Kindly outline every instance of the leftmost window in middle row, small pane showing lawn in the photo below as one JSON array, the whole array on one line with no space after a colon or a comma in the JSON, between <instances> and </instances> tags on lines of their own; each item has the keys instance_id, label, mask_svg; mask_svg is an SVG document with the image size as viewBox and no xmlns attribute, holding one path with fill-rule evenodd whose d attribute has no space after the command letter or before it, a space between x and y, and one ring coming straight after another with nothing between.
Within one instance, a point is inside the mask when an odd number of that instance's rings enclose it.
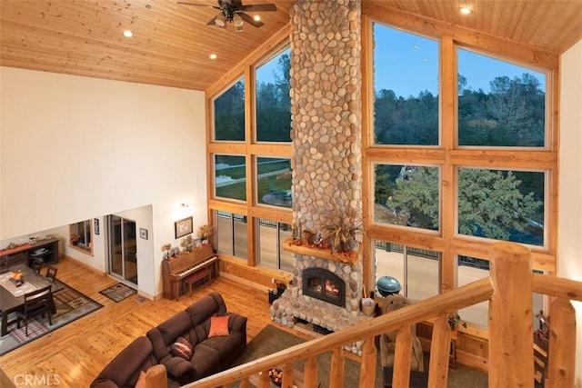
<instances>
[{"instance_id":1,"label":"leftmost window in middle row, small pane showing lawn","mask_svg":"<svg viewBox=\"0 0 582 388\"><path fill-rule=\"evenodd\" d=\"M246 201L245 156L215 155L216 196Z\"/></svg>"}]
</instances>

